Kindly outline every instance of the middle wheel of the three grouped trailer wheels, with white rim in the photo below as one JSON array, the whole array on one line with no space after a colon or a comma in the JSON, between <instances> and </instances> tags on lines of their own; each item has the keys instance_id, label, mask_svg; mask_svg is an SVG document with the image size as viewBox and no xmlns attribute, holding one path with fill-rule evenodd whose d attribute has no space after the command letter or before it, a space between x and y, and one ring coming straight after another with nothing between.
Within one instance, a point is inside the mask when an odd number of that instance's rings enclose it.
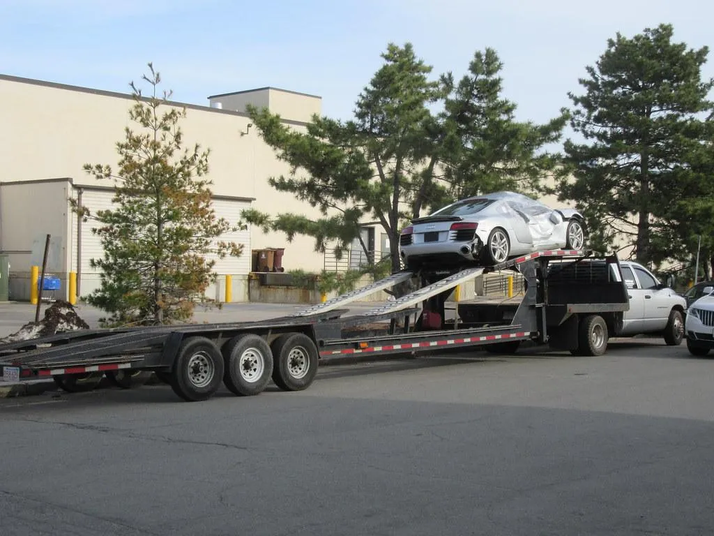
<instances>
[{"instance_id":1,"label":"middle wheel of the three grouped trailer wheels, with white rim","mask_svg":"<svg viewBox=\"0 0 714 536\"><path fill-rule=\"evenodd\" d=\"M246 333L233 337L221 349L223 383L239 397L250 397L266 388L273 374L273 352L266 339Z\"/></svg>"}]
</instances>

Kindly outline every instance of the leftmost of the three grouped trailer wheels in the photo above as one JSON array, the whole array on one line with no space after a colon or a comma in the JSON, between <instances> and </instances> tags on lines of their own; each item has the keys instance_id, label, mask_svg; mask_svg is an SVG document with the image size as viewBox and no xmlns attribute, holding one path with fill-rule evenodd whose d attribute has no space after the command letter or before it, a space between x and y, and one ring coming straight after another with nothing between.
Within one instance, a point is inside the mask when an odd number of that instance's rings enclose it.
<instances>
[{"instance_id":1,"label":"leftmost of the three grouped trailer wheels","mask_svg":"<svg viewBox=\"0 0 714 536\"><path fill-rule=\"evenodd\" d=\"M206 337L188 337L178 347L171 389L187 402L206 400L221 387L223 356Z\"/></svg>"}]
</instances>

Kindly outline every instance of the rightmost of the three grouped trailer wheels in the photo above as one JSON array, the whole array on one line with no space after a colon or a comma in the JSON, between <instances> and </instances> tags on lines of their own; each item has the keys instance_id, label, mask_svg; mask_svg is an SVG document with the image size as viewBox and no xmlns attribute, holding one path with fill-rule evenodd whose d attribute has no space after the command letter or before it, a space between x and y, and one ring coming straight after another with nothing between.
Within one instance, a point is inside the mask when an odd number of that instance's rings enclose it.
<instances>
[{"instance_id":1,"label":"rightmost of the three grouped trailer wheels","mask_svg":"<svg viewBox=\"0 0 714 536\"><path fill-rule=\"evenodd\" d=\"M302 333L286 333L271 344L273 349L273 382L283 391L307 389L317 374L317 348Z\"/></svg>"}]
</instances>

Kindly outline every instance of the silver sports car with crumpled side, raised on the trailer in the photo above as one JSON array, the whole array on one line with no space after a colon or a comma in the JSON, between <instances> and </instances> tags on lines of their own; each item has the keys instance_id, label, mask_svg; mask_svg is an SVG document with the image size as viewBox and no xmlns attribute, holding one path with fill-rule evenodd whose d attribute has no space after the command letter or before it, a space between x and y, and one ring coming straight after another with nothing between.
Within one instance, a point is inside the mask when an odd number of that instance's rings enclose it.
<instances>
[{"instance_id":1,"label":"silver sports car with crumpled side, raised on the trailer","mask_svg":"<svg viewBox=\"0 0 714 536\"><path fill-rule=\"evenodd\" d=\"M513 192L469 197L402 229L399 249L408 269L497 264L544 249L582 249L584 219Z\"/></svg>"}]
</instances>

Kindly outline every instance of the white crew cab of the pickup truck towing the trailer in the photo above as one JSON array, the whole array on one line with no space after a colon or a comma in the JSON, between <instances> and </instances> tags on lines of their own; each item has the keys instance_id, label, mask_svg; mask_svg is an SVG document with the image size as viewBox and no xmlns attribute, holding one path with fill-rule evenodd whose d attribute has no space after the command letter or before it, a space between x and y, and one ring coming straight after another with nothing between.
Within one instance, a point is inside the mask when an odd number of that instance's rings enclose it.
<instances>
[{"instance_id":1,"label":"white crew cab of the pickup truck towing the trailer","mask_svg":"<svg viewBox=\"0 0 714 536\"><path fill-rule=\"evenodd\" d=\"M684 297L660 283L641 264L620 261L620 268L628 289L630 310L625 311L622 328L615 333L615 337L660 332L667 344L681 344L684 312L687 309Z\"/></svg>"}]
</instances>

